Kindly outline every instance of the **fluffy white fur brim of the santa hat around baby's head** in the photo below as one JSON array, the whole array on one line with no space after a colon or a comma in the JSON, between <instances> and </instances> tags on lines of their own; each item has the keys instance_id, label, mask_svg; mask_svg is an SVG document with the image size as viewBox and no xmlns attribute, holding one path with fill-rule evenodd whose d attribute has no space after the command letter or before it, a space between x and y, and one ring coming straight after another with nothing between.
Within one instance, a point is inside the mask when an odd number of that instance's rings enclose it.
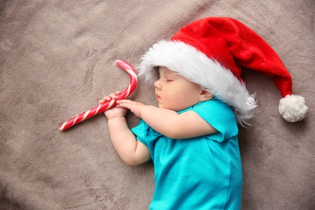
<instances>
[{"instance_id":1,"label":"fluffy white fur brim of the santa hat around baby's head","mask_svg":"<svg viewBox=\"0 0 315 210\"><path fill-rule=\"evenodd\" d=\"M254 95L249 95L241 83L228 69L203 52L180 41L159 41L143 56L140 75L153 83L158 75L155 66L166 66L234 108L240 124L253 117L257 106Z\"/></svg>"}]
</instances>

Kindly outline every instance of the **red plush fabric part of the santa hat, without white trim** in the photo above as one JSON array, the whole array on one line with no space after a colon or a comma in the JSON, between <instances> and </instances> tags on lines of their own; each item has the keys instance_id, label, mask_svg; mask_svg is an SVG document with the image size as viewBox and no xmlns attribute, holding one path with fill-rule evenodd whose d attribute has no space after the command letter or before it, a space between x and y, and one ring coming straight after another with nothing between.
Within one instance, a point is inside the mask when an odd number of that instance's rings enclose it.
<instances>
[{"instance_id":1,"label":"red plush fabric part of the santa hat, without white trim","mask_svg":"<svg viewBox=\"0 0 315 210\"><path fill-rule=\"evenodd\" d=\"M242 67L273 77L283 97L292 94L292 79L278 54L255 31L238 20L208 17L181 28L180 40L213 57L241 79Z\"/></svg>"}]
</instances>

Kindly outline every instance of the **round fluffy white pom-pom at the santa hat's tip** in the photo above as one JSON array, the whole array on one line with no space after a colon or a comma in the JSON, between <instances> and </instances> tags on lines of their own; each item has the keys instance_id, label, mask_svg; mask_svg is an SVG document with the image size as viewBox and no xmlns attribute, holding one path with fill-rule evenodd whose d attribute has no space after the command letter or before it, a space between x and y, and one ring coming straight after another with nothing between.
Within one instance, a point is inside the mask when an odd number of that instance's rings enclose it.
<instances>
[{"instance_id":1,"label":"round fluffy white pom-pom at the santa hat's tip","mask_svg":"<svg viewBox=\"0 0 315 210\"><path fill-rule=\"evenodd\" d=\"M279 112L288 122L297 122L306 116L308 111L302 96L287 95L279 102Z\"/></svg>"}]
</instances>

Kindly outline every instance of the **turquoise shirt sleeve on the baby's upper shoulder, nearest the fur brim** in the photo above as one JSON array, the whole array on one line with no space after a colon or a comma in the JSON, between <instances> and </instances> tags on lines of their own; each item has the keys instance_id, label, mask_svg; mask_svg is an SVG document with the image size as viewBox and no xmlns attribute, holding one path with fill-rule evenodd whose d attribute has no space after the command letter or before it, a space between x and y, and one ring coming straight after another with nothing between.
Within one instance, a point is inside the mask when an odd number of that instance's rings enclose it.
<instances>
[{"instance_id":1,"label":"turquoise shirt sleeve on the baby's upper shoulder, nearest the fur brim","mask_svg":"<svg viewBox=\"0 0 315 210\"><path fill-rule=\"evenodd\" d=\"M196 112L218 130L217 133L209 135L215 141L226 141L239 133L233 110L219 99L213 98L212 100L201 102L195 105L191 111Z\"/></svg>"}]
</instances>

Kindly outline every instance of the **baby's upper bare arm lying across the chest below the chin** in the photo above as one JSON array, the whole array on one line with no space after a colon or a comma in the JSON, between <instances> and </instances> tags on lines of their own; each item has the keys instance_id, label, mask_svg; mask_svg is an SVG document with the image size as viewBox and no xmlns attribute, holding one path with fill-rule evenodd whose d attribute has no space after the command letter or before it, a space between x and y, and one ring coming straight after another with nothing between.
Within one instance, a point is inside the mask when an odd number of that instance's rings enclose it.
<instances>
[{"instance_id":1,"label":"baby's upper bare arm lying across the chest below the chin","mask_svg":"<svg viewBox=\"0 0 315 210\"><path fill-rule=\"evenodd\" d=\"M120 100L117 103L119 107L130 109L154 130L170 138L191 138L217 132L194 111L178 114L173 110L147 106L130 100Z\"/></svg>"}]
</instances>

